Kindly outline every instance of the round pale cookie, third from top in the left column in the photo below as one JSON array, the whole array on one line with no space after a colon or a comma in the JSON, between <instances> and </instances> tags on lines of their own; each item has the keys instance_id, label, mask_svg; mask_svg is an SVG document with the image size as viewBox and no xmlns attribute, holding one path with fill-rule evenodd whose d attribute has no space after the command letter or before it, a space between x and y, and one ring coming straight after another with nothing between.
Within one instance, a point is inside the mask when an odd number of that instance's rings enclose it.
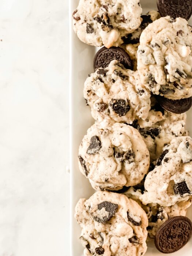
<instances>
[{"instance_id":1,"label":"round pale cookie, third from top in the left column","mask_svg":"<svg viewBox=\"0 0 192 256\"><path fill-rule=\"evenodd\" d=\"M139 132L126 124L95 123L79 147L79 168L96 190L138 184L149 168L149 152Z\"/></svg>"}]
</instances>

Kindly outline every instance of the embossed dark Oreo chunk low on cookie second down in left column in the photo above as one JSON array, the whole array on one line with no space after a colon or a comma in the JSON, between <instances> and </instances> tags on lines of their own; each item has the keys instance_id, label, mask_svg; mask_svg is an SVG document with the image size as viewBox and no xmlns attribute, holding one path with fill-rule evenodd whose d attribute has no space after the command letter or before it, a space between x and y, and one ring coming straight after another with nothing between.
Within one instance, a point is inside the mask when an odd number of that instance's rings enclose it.
<instances>
[{"instance_id":1,"label":"embossed dark Oreo chunk low on cookie second down in left column","mask_svg":"<svg viewBox=\"0 0 192 256\"><path fill-rule=\"evenodd\" d=\"M118 116L125 116L130 110L130 106L128 104L126 105L124 99L112 99L109 105Z\"/></svg>"}]
</instances>

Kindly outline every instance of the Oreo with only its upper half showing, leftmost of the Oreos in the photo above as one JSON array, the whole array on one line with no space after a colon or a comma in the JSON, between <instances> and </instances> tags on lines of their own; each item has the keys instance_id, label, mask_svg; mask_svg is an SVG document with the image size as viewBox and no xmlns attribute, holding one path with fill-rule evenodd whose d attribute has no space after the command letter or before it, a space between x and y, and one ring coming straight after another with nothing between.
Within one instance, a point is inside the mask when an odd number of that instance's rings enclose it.
<instances>
[{"instance_id":1,"label":"Oreo with only its upper half showing, leftmost of the Oreos","mask_svg":"<svg viewBox=\"0 0 192 256\"><path fill-rule=\"evenodd\" d=\"M120 47L111 47L106 48L102 47L95 54L93 60L94 70L97 68L106 68L112 60L118 60L121 64L124 65L127 69L133 69L132 61L129 57L129 54L125 52L124 49Z\"/></svg>"}]
</instances>

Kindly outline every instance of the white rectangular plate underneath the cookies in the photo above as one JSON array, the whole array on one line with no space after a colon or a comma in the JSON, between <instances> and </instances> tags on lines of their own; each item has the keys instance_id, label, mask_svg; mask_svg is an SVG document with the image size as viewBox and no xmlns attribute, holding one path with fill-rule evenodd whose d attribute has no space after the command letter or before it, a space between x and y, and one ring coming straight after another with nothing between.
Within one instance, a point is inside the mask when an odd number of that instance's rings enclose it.
<instances>
[{"instance_id":1,"label":"white rectangular plate underneath the cookies","mask_svg":"<svg viewBox=\"0 0 192 256\"><path fill-rule=\"evenodd\" d=\"M72 12L78 6L79 0L69 0L70 10L69 17L71 19ZM143 14L146 14L150 10L157 10L156 1L140 0L143 8ZM192 19L189 23L192 25ZM86 106L83 98L83 85L87 78L87 75L93 72L93 58L96 52L96 48L89 46L81 42L75 35L72 28L70 28L70 46L71 46L71 105L70 105L70 125L71 125L71 256L83 256L83 247L80 244L80 227L74 218L75 205L80 198L88 199L94 190L91 188L89 180L84 177L78 167L78 149L83 136L86 134L87 129L94 124L94 120L91 117L90 108ZM188 112L187 128L192 135L192 110ZM187 216L192 220L192 207L188 210ZM153 243L148 244L146 256L160 256L163 255L155 248ZM180 251L172 253L174 256L191 256L192 255L192 239L184 246Z\"/></svg>"}]
</instances>

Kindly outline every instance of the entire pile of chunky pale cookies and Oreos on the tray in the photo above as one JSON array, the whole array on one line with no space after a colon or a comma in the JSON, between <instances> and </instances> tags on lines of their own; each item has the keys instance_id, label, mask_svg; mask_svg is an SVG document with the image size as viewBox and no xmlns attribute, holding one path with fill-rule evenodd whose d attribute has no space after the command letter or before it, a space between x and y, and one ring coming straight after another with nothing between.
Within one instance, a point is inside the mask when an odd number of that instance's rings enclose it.
<instances>
[{"instance_id":1,"label":"entire pile of chunky pale cookies and Oreos on the tray","mask_svg":"<svg viewBox=\"0 0 192 256\"><path fill-rule=\"evenodd\" d=\"M73 13L79 39L104 45L83 90L95 124L78 161L97 191L75 209L86 256L144 255L147 239L172 253L191 237L192 1L169 2L142 15L139 0L80 0Z\"/></svg>"}]
</instances>

